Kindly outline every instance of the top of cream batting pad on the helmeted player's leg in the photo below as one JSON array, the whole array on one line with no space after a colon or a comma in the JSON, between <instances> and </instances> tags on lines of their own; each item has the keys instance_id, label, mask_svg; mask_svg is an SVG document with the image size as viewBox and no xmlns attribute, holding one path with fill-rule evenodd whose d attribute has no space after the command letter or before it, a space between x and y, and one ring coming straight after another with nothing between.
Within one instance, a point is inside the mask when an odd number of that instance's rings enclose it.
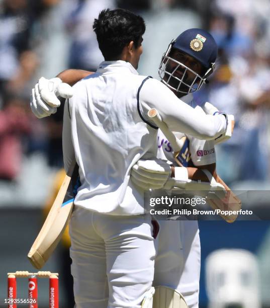
<instances>
[{"instance_id":1,"label":"top of cream batting pad on the helmeted player's leg","mask_svg":"<svg viewBox=\"0 0 270 308\"><path fill-rule=\"evenodd\" d=\"M184 296L166 286L155 287L153 308L189 308Z\"/></svg>"}]
</instances>

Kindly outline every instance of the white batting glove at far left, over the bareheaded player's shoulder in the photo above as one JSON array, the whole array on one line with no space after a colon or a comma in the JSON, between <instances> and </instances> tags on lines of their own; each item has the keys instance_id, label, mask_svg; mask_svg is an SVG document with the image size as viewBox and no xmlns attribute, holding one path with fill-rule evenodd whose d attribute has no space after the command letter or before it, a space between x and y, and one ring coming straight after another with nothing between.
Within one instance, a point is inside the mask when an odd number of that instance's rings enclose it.
<instances>
[{"instance_id":1,"label":"white batting glove at far left, over the bareheaded player's shoulder","mask_svg":"<svg viewBox=\"0 0 270 308\"><path fill-rule=\"evenodd\" d=\"M40 119L55 113L60 106L58 96L71 98L73 90L68 84L62 83L60 78L41 77L32 89L30 106L34 115Z\"/></svg>"}]
</instances>

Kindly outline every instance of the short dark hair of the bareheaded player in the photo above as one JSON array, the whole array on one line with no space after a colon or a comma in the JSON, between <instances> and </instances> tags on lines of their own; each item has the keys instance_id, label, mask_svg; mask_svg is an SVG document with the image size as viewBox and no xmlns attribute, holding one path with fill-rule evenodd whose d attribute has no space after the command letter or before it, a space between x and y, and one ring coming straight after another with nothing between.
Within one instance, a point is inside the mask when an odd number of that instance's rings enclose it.
<instances>
[{"instance_id":1,"label":"short dark hair of the bareheaded player","mask_svg":"<svg viewBox=\"0 0 270 308\"><path fill-rule=\"evenodd\" d=\"M105 60L111 61L119 59L123 48L131 41L134 41L135 48L139 46L145 23L141 16L127 10L106 9L95 19L93 29Z\"/></svg>"}]
</instances>

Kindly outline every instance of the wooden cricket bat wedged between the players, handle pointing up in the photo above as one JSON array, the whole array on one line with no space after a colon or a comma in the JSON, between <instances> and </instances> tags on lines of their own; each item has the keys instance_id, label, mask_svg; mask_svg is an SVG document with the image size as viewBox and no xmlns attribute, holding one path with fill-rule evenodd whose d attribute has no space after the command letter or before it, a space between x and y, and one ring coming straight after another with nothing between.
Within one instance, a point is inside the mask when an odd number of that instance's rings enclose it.
<instances>
[{"instance_id":1,"label":"wooden cricket bat wedged between the players, handle pointing up","mask_svg":"<svg viewBox=\"0 0 270 308\"><path fill-rule=\"evenodd\" d=\"M167 124L162 121L160 115L157 110L152 108L148 111L148 117L155 123L155 125L163 132L165 137L168 139L172 149L174 150L174 159L176 163L180 166L181 162L177 159L179 155L179 151L183 146L183 142L175 137L175 135L169 130ZM238 211L241 209L241 200L230 190L230 188L226 185L226 197L224 199L211 199L207 198L208 204L213 209L220 209L222 211ZM234 222L237 218L238 214L219 214L225 221L231 223Z\"/></svg>"}]
</instances>

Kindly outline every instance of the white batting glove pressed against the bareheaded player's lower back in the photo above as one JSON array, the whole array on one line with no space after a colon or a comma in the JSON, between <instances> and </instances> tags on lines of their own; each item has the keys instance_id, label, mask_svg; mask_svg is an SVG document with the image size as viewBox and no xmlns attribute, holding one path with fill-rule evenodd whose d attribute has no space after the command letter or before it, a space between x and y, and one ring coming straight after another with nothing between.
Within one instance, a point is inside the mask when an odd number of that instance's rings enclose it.
<instances>
[{"instance_id":1,"label":"white batting glove pressed against the bareheaded player's lower back","mask_svg":"<svg viewBox=\"0 0 270 308\"><path fill-rule=\"evenodd\" d=\"M171 174L170 165L163 160L139 160L130 174L134 184L143 190L163 188Z\"/></svg>"}]
</instances>

